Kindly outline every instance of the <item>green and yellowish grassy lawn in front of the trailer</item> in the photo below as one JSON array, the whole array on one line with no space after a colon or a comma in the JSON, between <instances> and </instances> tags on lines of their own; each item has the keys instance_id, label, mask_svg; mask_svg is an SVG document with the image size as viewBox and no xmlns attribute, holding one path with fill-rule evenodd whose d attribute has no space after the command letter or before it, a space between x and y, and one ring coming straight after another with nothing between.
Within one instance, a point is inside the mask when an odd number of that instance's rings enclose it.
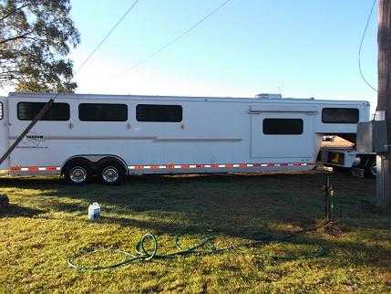
<instances>
[{"instance_id":1,"label":"green and yellowish grassy lawn in front of the trailer","mask_svg":"<svg viewBox=\"0 0 391 294\"><path fill-rule=\"evenodd\" d=\"M390 292L391 215L373 204L376 182L343 173L334 174L332 182L343 234L308 232L279 242L324 217L322 173L135 176L118 187L3 178L0 193L13 205L0 211L1 292ZM102 218L89 223L87 205L95 201ZM159 236L163 253L175 250L175 236L183 237L183 247L206 235L216 236L219 247L274 241L112 270L67 266L67 257L80 247L134 252L148 232ZM314 244L326 254L311 254L318 250Z\"/></svg>"}]
</instances>

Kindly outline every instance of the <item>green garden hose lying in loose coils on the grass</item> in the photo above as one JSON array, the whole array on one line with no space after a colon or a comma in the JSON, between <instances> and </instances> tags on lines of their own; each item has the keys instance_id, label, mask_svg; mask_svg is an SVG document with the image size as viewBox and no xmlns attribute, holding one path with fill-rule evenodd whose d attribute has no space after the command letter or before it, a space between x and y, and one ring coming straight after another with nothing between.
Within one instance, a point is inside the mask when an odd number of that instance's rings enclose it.
<instances>
[{"instance_id":1,"label":"green garden hose lying in loose coils on the grass","mask_svg":"<svg viewBox=\"0 0 391 294\"><path fill-rule=\"evenodd\" d=\"M327 224L328 223L325 223L321 226L326 226ZM314 231L321 226L316 226L311 229L301 230L301 231L295 232L293 234L287 235L287 236L283 237L283 239L279 239L279 240L268 238L268 239L262 239L262 240L257 240L257 241L251 241L248 243L242 243L242 244L234 245L231 247L216 247L214 245L215 237L214 236L206 236L206 237L202 238L198 244L196 244L192 247L182 248L182 247L180 247L180 244L179 244L180 238L176 237L175 238L175 246L178 248L178 250L170 252L168 254L158 254L158 239L156 236L149 233L149 234L142 236L139 239L139 242L136 244L136 247L135 247L135 251L136 251L135 254L131 254L127 251L123 251L123 250L115 249L115 248L87 247L87 248L80 249L75 254L68 257L67 263L70 268L77 268L79 270L101 270L101 269L108 269L108 268L118 268L121 266L128 265L130 263L134 263L139 260L149 261L149 260L155 259L155 258L163 259L163 258L183 256L183 255L196 254L196 253L197 254L212 254L212 253L219 253L222 251L236 249L239 247L254 247L254 246L260 245L260 244L266 245L266 244L272 243L273 241L288 242L289 239L291 239L293 236L295 236L297 234L302 234L305 232ZM151 245L152 245L151 249L146 248L147 242L151 242ZM311 257L322 257L326 254L325 247L323 247L319 244L312 244L312 245L318 247L318 250L315 253L311 253ZM197 250L197 249L201 249L201 248L202 248L202 250ZM87 254L94 254L94 253L99 253L99 252L109 252L112 254L121 254L124 256L124 259L119 262L115 262L115 263L112 263L109 265L98 265L98 266L83 266L83 265L77 263L77 261L76 261L76 259L79 257L84 257ZM294 258L292 256L285 257L285 256L277 256L277 255L268 255L268 257L272 257L274 259L283 259L283 260Z\"/></svg>"}]
</instances>

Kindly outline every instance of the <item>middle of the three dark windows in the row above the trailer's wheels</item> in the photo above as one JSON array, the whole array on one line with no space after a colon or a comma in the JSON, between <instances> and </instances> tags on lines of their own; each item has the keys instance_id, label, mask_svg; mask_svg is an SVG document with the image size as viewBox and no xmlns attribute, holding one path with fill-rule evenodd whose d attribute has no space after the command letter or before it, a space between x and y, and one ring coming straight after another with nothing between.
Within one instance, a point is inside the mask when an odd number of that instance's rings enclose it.
<instances>
[{"instance_id":1,"label":"middle of the three dark windows in the row above the trailer's wheels","mask_svg":"<svg viewBox=\"0 0 391 294\"><path fill-rule=\"evenodd\" d=\"M80 121L128 121L128 105L108 103L81 103L78 105Z\"/></svg>"}]
</instances>

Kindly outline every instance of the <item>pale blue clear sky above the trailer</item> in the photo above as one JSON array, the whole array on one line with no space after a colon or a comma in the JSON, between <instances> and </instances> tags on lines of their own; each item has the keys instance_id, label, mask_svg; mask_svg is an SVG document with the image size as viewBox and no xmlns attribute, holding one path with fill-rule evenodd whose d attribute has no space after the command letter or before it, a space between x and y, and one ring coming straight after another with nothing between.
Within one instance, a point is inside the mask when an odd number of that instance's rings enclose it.
<instances>
[{"instance_id":1,"label":"pale blue clear sky above the trailer","mask_svg":"<svg viewBox=\"0 0 391 294\"><path fill-rule=\"evenodd\" d=\"M190 35L129 70L179 36L222 0L140 0L75 77L77 92L369 100L358 73L367 0L232 0ZM77 68L132 2L71 1L81 44ZM376 85L376 13L363 47L363 71ZM126 72L126 73L124 73ZM3 89L4 91L5 89Z\"/></svg>"}]
</instances>

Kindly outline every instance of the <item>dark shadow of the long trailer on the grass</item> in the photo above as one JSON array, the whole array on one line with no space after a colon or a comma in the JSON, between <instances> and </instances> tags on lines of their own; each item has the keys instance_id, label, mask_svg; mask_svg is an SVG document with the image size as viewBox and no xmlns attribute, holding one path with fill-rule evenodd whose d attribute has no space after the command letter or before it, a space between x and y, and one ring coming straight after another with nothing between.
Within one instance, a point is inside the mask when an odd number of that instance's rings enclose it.
<instances>
[{"instance_id":1,"label":"dark shadow of the long trailer on the grass","mask_svg":"<svg viewBox=\"0 0 391 294\"><path fill-rule=\"evenodd\" d=\"M334 174L336 218L353 219L350 225L384 227L366 222L381 215L369 195L374 181ZM88 184L71 186L58 178L3 178L0 185L39 191L45 208L85 212L98 202L102 212L122 216L148 215L175 218L189 226L236 227L256 230L262 225L309 226L324 215L324 175L307 174L212 174L132 176L119 186ZM76 200L62 202L61 198ZM113 222L116 220L113 219ZM249 234L249 235L252 235Z\"/></svg>"}]
</instances>

